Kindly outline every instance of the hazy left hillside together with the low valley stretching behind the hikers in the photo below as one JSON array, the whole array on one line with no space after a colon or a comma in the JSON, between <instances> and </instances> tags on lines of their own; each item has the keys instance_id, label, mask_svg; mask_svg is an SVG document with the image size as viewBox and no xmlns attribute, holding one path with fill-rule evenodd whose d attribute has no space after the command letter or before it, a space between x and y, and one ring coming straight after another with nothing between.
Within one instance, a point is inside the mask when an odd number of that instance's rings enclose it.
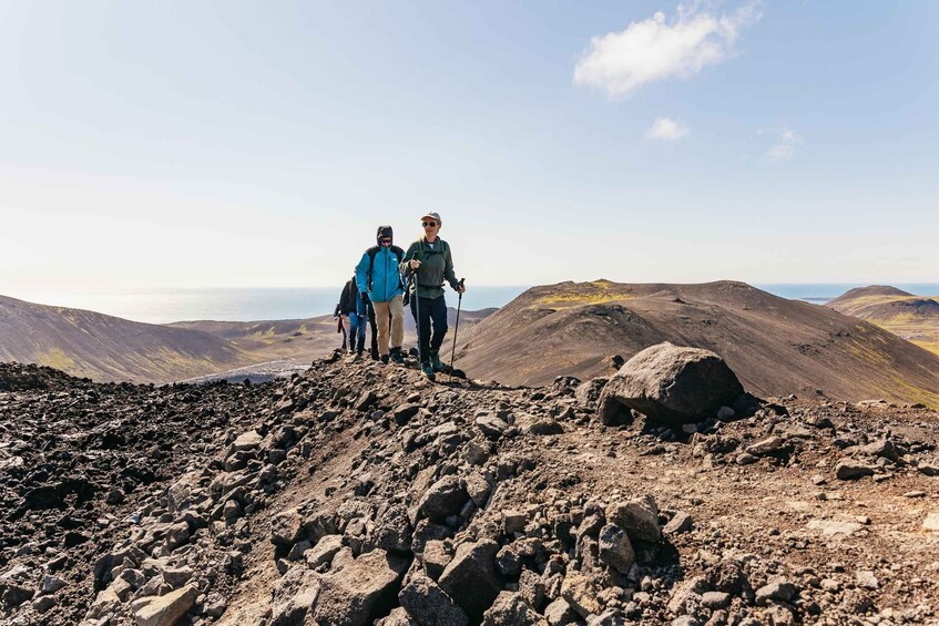
<instances>
[{"instance_id":1,"label":"hazy left hillside together with the low valley stretching behind the hikers","mask_svg":"<svg viewBox=\"0 0 939 626\"><path fill-rule=\"evenodd\" d=\"M461 333L494 310L462 311ZM456 309L448 317L452 325ZM410 311L405 327L407 348L415 337ZM166 383L252 372L252 366L271 378L271 372L306 367L338 348L343 339L336 329L333 316L142 324L0 296L0 361L38 363L99 382Z\"/></svg>"}]
</instances>

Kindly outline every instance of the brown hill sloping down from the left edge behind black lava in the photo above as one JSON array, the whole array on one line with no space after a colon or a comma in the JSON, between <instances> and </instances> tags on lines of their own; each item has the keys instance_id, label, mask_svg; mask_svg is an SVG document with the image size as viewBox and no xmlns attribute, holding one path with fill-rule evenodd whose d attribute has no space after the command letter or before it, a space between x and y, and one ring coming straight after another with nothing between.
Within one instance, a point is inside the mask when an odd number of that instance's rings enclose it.
<instances>
[{"instance_id":1,"label":"brown hill sloping down from the left edge behind black lava","mask_svg":"<svg viewBox=\"0 0 939 626\"><path fill-rule=\"evenodd\" d=\"M0 296L0 361L159 383L243 366L251 356L207 332Z\"/></svg>"}]
</instances>

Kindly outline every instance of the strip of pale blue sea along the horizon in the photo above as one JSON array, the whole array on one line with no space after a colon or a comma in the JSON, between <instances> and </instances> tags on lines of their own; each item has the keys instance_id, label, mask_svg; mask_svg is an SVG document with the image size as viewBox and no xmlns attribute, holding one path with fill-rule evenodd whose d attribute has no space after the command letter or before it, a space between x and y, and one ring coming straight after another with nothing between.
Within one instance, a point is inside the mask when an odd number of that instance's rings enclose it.
<instances>
[{"instance_id":1,"label":"strip of pale blue sea along the horizon","mask_svg":"<svg viewBox=\"0 0 939 626\"><path fill-rule=\"evenodd\" d=\"M782 298L824 305L863 283L756 284L754 287ZM939 283L895 283L894 287L917 296L939 296ZM531 286L477 286L463 295L463 310L503 307ZM86 293L11 293L12 298L41 305L85 309L146 324L174 321L262 321L305 319L329 315L341 289L297 288L186 288ZM457 306L457 295L447 290L447 305Z\"/></svg>"}]
</instances>

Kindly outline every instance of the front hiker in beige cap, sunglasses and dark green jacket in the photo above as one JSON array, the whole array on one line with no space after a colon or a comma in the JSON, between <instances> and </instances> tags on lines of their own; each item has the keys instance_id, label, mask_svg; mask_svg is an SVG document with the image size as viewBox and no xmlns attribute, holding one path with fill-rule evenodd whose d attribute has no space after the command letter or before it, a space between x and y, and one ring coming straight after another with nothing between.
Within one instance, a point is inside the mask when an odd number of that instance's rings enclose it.
<instances>
[{"instance_id":1,"label":"front hiker in beige cap, sunglasses and dark green jacket","mask_svg":"<svg viewBox=\"0 0 939 626\"><path fill-rule=\"evenodd\" d=\"M435 372L443 369L440 362L440 346L447 335L443 281L449 283L458 294L462 294L466 288L457 283L449 244L437 236L442 225L440 214L425 213L420 225L423 227L423 236L408 247L401 271L406 277L414 277L409 289L411 315L420 333L420 368L427 378L433 380Z\"/></svg>"}]
</instances>

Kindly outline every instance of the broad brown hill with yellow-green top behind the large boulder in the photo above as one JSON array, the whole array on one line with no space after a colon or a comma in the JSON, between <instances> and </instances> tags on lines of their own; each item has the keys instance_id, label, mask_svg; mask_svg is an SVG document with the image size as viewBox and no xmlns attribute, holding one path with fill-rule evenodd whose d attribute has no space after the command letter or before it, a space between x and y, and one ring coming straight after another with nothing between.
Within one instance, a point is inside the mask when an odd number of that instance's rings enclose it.
<instances>
[{"instance_id":1,"label":"broad brown hill with yellow-green top behind the large boulder","mask_svg":"<svg viewBox=\"0 0 939 626\"><path fill-rule=\"evenodd\" d=\"M747 390L841 400L887 398L939 407L939 357L837 311L749 285L534 287L460 342L457 366L474 378L543 384L614 371L613 356L672 341L724 357Z\"/></svg>"}]
</instances>

